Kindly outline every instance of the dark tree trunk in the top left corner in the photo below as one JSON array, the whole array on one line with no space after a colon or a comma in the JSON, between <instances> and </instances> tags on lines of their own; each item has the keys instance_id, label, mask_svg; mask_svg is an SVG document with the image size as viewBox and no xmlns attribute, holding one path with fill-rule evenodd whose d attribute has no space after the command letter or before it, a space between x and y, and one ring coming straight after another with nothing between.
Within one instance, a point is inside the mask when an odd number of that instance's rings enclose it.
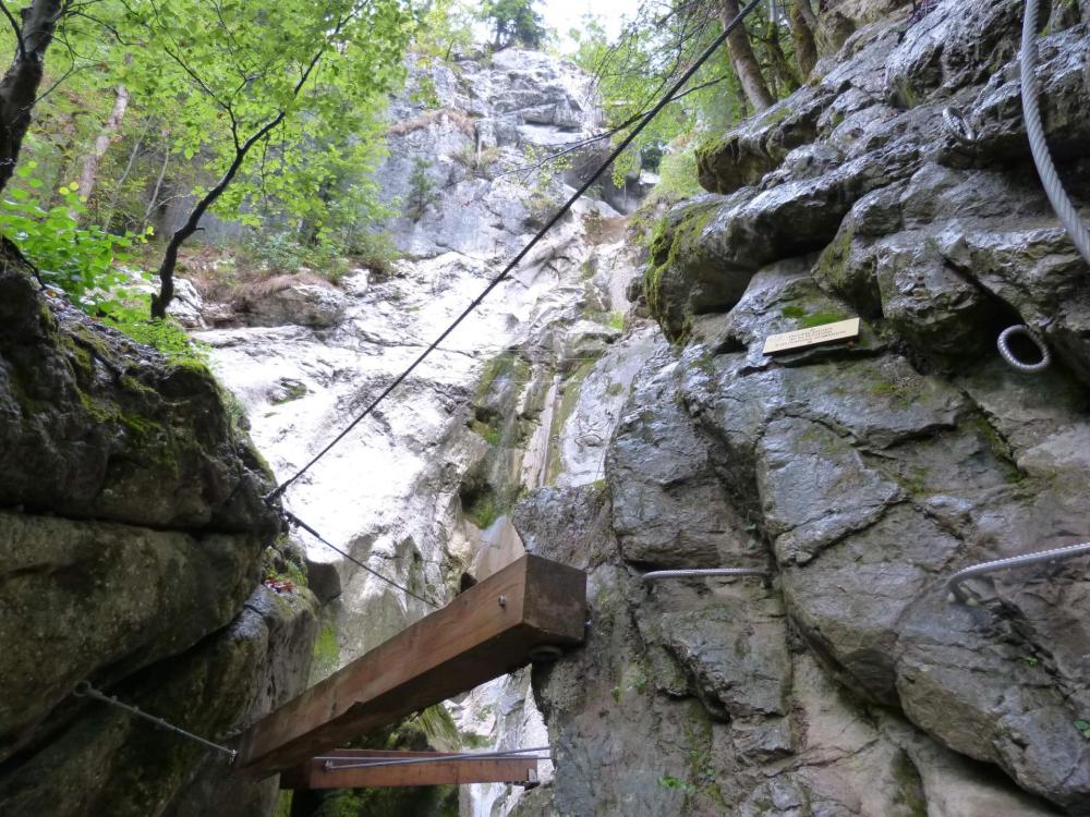
<instances>
[{"instance_id":1,"label":"dark tree trunk in the top left corner","mask_svg":"<svg viewBox=\"0 0 1090 817\"><path fill-rule=\"evenodd\" d=\"M63 0L33 0L20 12L22 23L8 21L15 32L15 58L0 80L0 191L15 172L62 7Z\"/></svg>"}]
</instances>

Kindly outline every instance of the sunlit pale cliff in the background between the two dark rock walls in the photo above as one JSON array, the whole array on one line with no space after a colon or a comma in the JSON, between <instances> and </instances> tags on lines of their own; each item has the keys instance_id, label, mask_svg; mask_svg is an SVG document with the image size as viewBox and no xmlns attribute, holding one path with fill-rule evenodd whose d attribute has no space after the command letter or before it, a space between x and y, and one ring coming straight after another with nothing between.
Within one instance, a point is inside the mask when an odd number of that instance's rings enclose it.
<instances>
[{"instance_id":1,"label":"sunlit pale cliff in the background between the two dark rock walls","mask_svg":"<svg viewBox=\"0 0 1090 817\"><path fill-rule=\"evenodd\" d=\"M589 77L570 63L510 50L427 68L413 60L410 74L390 106L389 155L377 174L388 203L400 199L387 227L404 257L390 270L347 277L335 325L278 319L198 336L281 478L481 295L570 195L566 183L595 164L580 161L565 173L545 166L526 181L535 153L592 135L601 119ZM423 200L411 195L417 160L434 183ZM335 645L335 655L322 672L431 612L375 573L445 602L525 552L511 523L521 496L604 479L632 381L666 345L650 321L626 315L641 253L608 204L578 203L286 493L293 513L351 554L302 531L293 536L312 588L328 602L322 643ZM521 672L448 703L468 735L462 747L547 742L529 687ZM548 779L547 764L542 773ZM462 813L506 816L521 794L465 786Z\"/></svg>"}]
</instances>

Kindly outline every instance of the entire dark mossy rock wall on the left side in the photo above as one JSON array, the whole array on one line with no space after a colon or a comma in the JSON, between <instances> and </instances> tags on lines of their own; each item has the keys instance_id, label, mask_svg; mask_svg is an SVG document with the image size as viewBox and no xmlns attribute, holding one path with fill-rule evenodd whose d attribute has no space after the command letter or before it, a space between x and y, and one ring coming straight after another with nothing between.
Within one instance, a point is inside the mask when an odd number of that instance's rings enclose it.
<instances>
[{"instance_id":1,"label":"entire dark mossy rock wall on the left side","mask_svg":"<svg viewBox=\"0 0 1090 817\"><path fill-rule=\"evenodd\" d=\"M211 807L206 749L73 692L223 741L305 682L313 597L258 584L280 523L240 417L203 366L47 302L9 264L0 466L0 812L144 817L183 789ZM251 794L264 805L217 813L262 814L270 791Z\"/></svg>"}]
</instances>

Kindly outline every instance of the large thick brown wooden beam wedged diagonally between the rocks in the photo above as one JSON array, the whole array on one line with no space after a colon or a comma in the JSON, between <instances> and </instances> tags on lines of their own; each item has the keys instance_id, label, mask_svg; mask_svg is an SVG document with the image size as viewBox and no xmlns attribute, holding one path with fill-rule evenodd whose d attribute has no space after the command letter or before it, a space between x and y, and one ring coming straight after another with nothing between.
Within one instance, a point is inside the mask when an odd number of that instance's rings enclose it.
<instances>
[{"instance_id":1,"label":"large thick brown wooden beam wedged diagonally between the rocks","mask_svg":"<svg viewBox=\"0 0 1090 817\"><path fill-rule=\"evenodd\" d=\"M238 769L263 778L582 643L586 575L524 556L254 724Z\"/></svg>"}]
</instances>

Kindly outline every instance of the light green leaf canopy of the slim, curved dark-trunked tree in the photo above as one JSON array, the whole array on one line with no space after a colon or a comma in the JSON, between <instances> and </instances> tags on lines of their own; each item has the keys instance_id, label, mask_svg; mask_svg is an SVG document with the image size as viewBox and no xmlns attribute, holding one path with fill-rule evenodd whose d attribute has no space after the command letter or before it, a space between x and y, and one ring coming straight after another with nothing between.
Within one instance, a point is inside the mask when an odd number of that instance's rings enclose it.
<instances>
[{"instance_id":1,"label":"light green leaf canopy of the slim, curved dark-trunked tree","mask_svg":"<svg viewBox=\"0 0 1090 817\"><path fill-rule=\"evenodd\" d=\"M365 171L380 158L386 94L403 82L414 23L402 0L129 3L117 25L144 46L126 52L119 80L136 97L170 100L171 150L201 157L210 178L282 117L220 212L254 225L290 214L307 241L338 227L331 202L352 199L364 215L377 202Z\"/></svg>"}]
</instances>

